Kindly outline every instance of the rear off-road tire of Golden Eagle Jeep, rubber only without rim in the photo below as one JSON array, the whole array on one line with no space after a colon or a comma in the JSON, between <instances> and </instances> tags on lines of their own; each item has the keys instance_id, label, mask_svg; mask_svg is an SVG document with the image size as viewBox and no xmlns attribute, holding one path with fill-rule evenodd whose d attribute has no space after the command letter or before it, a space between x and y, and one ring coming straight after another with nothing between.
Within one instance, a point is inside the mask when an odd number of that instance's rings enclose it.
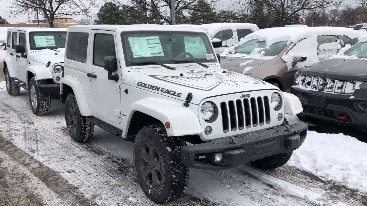
<instances>
[{"instance_id":1,"label":"rear off-road tire of Golden Eagle Jeep, rubber only without rim","mask_svg":"<svg viewBox=\"0 0 367 206\"><path fill-rule=\"evenodd\" d=\"M71 104L75 109L75 119L76 119L76 132L73 132L71 129L71 125L68 122L68 105ZM79 106L76 101L75 95L70 93L66 97L65 101L65 122L66 127L68 128L71 139L78 143L89 141L92 138L94 132L94 124L87 121L86 116L80 114Z\"/></svg>"}]
</instances>

